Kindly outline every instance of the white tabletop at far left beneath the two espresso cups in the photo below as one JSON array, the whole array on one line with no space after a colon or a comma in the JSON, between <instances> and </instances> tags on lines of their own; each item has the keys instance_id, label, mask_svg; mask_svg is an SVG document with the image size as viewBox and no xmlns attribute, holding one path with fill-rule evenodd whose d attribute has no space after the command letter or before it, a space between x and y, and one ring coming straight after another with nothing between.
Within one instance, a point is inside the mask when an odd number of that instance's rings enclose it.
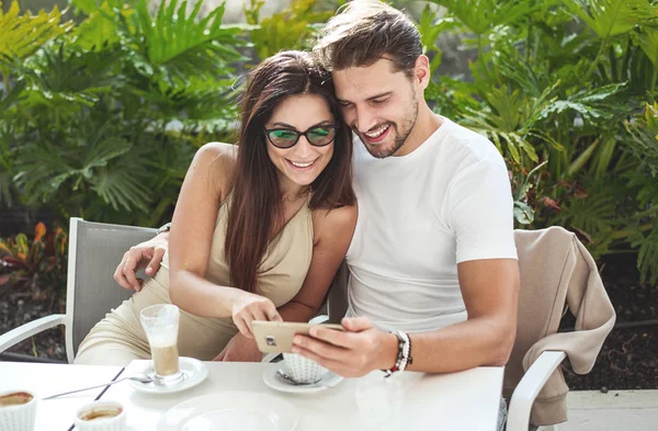
<instances>
[{"instance_id":1,"label":"white tabletop at far left beneath the two espresso cups","mask_svg":"<svg viewBox=\"0 0 658 431\"><path fill-rule=\"evenodd\" d=\"M0 390L27 389L38 397L47 397L86 386L111 382L123 367L33 364L0 362ZM67 395L61 398L39 400L36 408L35 431L66 431L73 424L76 410L92 402L103 387Z\"/></svg>"}]
</instances>

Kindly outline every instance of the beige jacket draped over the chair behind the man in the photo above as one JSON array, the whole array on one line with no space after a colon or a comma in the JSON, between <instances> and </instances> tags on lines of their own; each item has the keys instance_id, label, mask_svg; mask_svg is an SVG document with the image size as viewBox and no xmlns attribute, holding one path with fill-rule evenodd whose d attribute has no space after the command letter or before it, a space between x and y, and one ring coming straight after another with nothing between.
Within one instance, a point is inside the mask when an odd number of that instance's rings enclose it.
<instances>
[{"instance_id":1,"label":"beige jacket draped over the chair behind the man","mask_svg":"<svg viewBox=\"0 0 658 431\"><path fill-rule=\"evenodd\" d=\"M564 351L574 372L589 373L615 320L597 264L576 235L551 227L517 230L514 239L521 292L517 340L504 374L508 399L544 351ZM575 331L557 333L566 307L576 316ZM547 426L566 421L568 390L557 368L534 402L531 422Z\"/></svg>"}]
</instances>

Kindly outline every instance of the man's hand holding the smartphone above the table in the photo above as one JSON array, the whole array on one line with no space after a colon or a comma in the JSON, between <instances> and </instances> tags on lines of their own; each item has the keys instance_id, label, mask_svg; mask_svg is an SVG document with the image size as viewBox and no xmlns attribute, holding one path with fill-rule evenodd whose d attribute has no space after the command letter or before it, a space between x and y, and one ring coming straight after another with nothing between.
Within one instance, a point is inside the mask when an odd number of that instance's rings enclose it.
<instances>
[{"instance_id":1,"label":"man's hand holding the smartphone above the table","mask_svg":"<svg viewBox=\"0 0 658 431\"><path fill-rule=\"evenodd\" d=\"M345 331L310 329L297 334L293 352L314 360L343 377L361 377L373 370L390 368L397 358L397 337L378 331L366 317L342 319Z\"/></svg>"}]
</instances>

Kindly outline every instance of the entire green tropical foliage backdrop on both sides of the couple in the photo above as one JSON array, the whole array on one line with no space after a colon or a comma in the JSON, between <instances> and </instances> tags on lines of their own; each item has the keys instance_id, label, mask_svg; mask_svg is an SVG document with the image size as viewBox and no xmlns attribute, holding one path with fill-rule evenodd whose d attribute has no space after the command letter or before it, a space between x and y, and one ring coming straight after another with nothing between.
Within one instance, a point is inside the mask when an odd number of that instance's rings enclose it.
<instances>
[{"instance_id":1,"label":"entire green tropical foliage backdrop on both sides of the couple","mask_svg":"<svg viewBox=\"0 0 658 431\"><path fill-rule=\"evenodd\" d=\"M180 0L155 12L146 0L70 0L68 14L5 5L0 207L46 207L65 224L169 219L196 148L232 139L240 76L309 48L339 3L297 0L263 18L250 0L243 25ZM565 226L597 258L636 253L655 283L658 2L412 3L434 71L427 99L506 157L518 226ZM467 73L443 71L445 37Z\"/></svg>"}]
</instances>

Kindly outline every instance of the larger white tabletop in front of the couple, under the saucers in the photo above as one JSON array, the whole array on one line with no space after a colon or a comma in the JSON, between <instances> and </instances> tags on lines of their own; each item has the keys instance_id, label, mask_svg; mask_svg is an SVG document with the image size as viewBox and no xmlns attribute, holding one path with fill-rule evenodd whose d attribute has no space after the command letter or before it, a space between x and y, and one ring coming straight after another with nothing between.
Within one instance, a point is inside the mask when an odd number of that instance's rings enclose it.
<instances>
[{"instance_id":1,"label":"larger white tabletop in front of the couple, under the saucers","mask_svg":"<svg viewBox=\"0 0 658 431\"><path fill-rule=\"evenodd\" d=\"M135 361L124 375L141 368ZM205 362L208 378L183 393L150 395L127 383L111 386L101 399L124 404L128 424L139 431L155 431L160 416L186 399L215 392L252 390L275 395L299 412L297 431L363 430L354 399L356 379L347 378L315 394L283 394L268 387L262 378L266 367L281 364ZM478 367L461 373L432 375L404 373L406 390L402 430L496 431L503 367ZM381 372L363 378L378 378Z\"/></svg>"}]
</instances>

